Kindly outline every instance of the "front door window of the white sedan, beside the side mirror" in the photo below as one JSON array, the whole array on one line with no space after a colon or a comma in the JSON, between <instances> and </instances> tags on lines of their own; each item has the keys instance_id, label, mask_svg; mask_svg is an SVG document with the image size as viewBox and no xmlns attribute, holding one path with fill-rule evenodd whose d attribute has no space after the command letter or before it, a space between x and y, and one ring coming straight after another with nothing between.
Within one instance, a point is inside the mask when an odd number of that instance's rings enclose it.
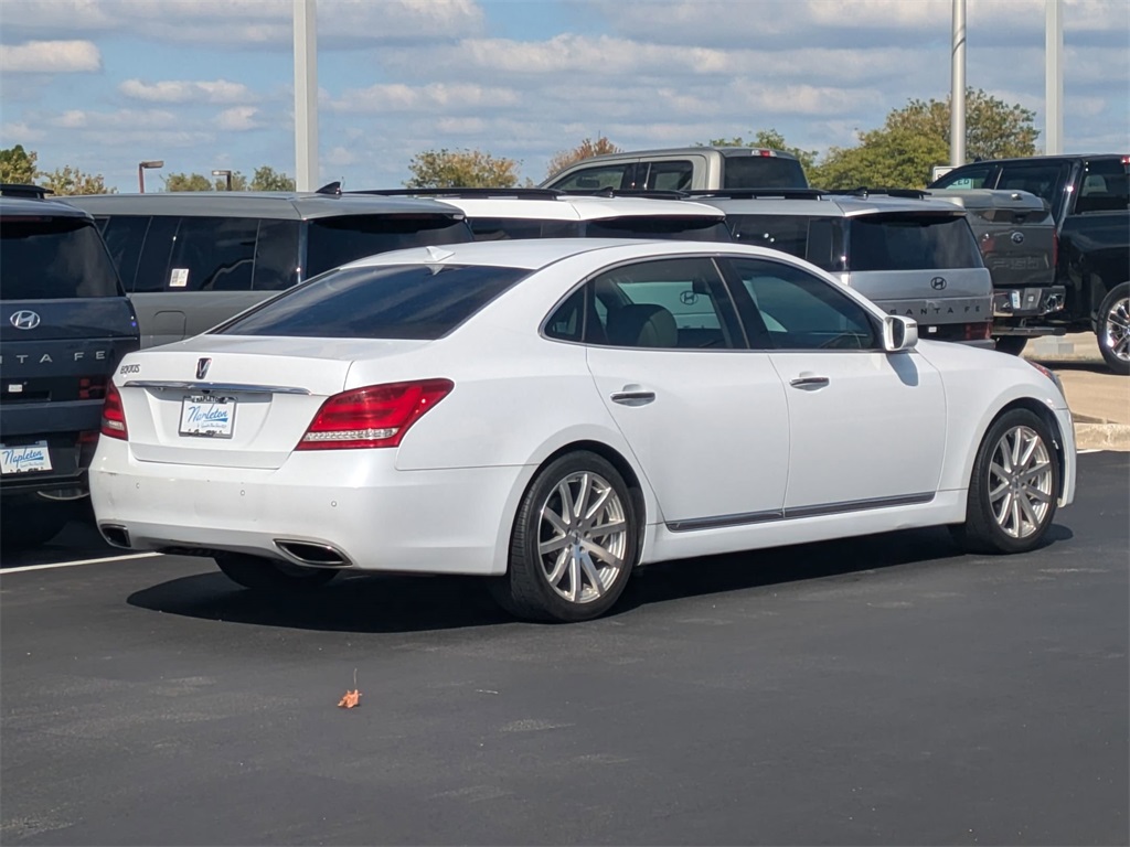
<instances>
[{"instance_id":1,"label":"front door window of the white sedan, beside the side mirror","mask_svg":"<svg viewBox=\"0 0 1130 847\"><path fill-rule=\"evenodd\" d=\"M835 286L789 264L732 259L770 346L777 350L871 350L879 347L867 311ZM750 333L760 335L760 326Z\"/></svg>"}]
</instances>

